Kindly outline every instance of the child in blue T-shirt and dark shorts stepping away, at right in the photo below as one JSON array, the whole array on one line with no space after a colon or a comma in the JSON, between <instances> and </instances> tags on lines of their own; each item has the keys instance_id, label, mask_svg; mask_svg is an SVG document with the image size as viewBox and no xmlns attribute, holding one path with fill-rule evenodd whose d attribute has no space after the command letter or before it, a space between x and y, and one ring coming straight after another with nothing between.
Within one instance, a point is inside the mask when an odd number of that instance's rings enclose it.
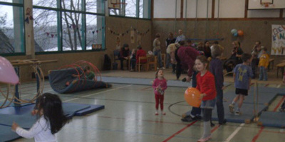
<instances>
[{"instance_id":1,"label":"child in blue T-shirt and dark shorts stepping away, at right","mask_svg":"<svg viewBox=\"0 0 285 142\"><path fill-rule=\"evenodd\" d=\"M252 62L252 55L244 53L242 54L242 64L238 64L234 67L234 87L236 88L237 96L234 97L232 104L229 104L229 111L234 114L234 104L239 101L236 115L242 114L240 109L244 102L244 97L248 95L251 78L254 77L252 67L249 63Z\"/></svg>"}]
</instances>

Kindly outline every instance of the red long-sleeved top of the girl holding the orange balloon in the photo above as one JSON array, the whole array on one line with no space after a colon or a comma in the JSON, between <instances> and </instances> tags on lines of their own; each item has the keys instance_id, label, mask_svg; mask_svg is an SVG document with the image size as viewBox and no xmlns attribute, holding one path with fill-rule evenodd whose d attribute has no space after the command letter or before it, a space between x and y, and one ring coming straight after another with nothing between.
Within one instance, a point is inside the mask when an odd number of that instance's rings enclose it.
<instances>
[{"instance_id":1,"label":"red long-sleeved top of the girl holding the orange balloon","mask_svg":"<svg viewBox=\"0 0 285 142\"><path fill-rule=\"evenodd\" d=\"M206 96L203 97L203 101L214 99L217 96L216 85L214 84L214 75L207 71L202 77L201 72L197 74L197 86L196 89Z\"/></svg>"}]
</instances>

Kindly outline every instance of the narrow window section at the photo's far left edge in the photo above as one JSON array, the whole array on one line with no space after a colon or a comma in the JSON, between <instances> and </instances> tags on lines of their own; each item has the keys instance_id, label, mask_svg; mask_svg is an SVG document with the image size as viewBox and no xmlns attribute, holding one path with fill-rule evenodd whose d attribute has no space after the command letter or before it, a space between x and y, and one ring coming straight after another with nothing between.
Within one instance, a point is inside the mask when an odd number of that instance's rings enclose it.
<instances>
[{"instance_id":1,"label":"narrow window section at the photo's far left edge","mask_svg":"<svg viewBox=\"0 0 285 142\"><path fill-rule=\"evenodd\" d=\"M21 1L0 1L0 54L25 52L23 16Z\"/></svg>"}]
</instances>

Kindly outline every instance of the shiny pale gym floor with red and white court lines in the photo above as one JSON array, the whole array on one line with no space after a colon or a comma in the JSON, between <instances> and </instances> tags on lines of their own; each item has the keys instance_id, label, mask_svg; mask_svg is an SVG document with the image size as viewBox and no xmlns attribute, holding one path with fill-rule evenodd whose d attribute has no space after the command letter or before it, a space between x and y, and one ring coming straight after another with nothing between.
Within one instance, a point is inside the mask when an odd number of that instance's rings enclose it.
<instances>
[{"instance_id":1,"label":"shiny pale gym floor with red and white court lines","mask_svg":"<svg viewBox=\"0 0 285 142\"><path fill-rule=\"evenodd\" d=\"M272 76L275 72L271 71ZM154 78L155 72L128 72L109 71L102 72L102 76ZM183 77L183 75L182 75ZM181 77L181 78L182 78ZM167 80L175 80L171 70L165 70ZM232 82L232 77L226 77L226 82ZM255 82L255 80L254 80ZM43 92L56 93L45 82ZM35 94L36 82L22 84L21 96ZM151 85L151 84L150 84ZM202 136L202 121L182 122L179 116L172 114L167 108L171 104L184 100L185 87L168 87L165 92L166 115L155 116L155 97L150 85L113 84L109 89L95 89L73 94L58 94L63 102L79 104L101 104L105 109L96 111L87 116L74 116L72 121L57 133L58 141L98 141L98 142L190 142L197 141ZM266 87L285 88L281 77L270 78L268 82L259 82ZM234 89L233 85L224 92ZM269 106L269 111L276 111L281 97L277 97ZM227 106L225 106L227 107ZM182 102L175 104L171 110L176 114L183 114L191 107ZM277 109L278 111L278 109ZM217 121L212 127L210 141L284 141L285 129L257 126L256 123L236 124L227 123L219 126ZM33 141L33 139L20 138L16 141Z\"/></svg>"}]
</instances>

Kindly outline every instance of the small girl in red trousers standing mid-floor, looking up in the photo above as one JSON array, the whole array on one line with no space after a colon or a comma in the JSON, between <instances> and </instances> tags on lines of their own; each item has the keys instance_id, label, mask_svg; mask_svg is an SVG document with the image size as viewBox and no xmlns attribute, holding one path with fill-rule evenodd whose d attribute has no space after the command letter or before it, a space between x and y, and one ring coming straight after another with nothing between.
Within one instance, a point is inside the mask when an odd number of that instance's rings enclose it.
<instances>
[{"instance_id":1,"label":"small girl in red trousers standing mid-floor, looking up","mask_svg":"<svg viewBox=\"0 0 285 142\"><path fill-rule=\"evenodd\" d=\"M163 100L165 99L165 89L167 89L167 83L165 77L163 77L163 70L157 70L155 73L155 80L153 81L152 88L155 89L155 115L158 115L158 104L160 104L160 111L163 112Z\"/></svg>"}]
</instances>

